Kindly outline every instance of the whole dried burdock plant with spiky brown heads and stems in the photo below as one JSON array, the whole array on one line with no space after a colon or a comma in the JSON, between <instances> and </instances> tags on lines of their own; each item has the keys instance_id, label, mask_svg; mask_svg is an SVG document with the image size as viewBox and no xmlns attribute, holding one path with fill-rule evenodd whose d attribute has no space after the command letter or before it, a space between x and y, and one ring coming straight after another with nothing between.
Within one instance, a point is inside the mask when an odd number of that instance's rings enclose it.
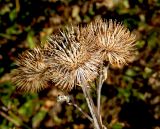
<instances>
[{"instance_id":1,"label":"whole dried burdock plant with spiky brown heads and stems","mask_svg":"<svg viewBox=\"0 0 160 129\"><path fill-rule=\"evenodd\" d=\"M19 56L18 68L12 73L13 82L19 90L27 92L47 87L70 91L80 86L91 116L67 96L58 96L58 101L75 106L91 121L93 128L107 129L100 114L102 84L110 65L122 67L132 61L135 41L133 33L113 20L99 19L85 27L68 26L49 36L43 46ZM98 79L96 104L90 94L95 79Z\"/></svg>"}]
</instances>

